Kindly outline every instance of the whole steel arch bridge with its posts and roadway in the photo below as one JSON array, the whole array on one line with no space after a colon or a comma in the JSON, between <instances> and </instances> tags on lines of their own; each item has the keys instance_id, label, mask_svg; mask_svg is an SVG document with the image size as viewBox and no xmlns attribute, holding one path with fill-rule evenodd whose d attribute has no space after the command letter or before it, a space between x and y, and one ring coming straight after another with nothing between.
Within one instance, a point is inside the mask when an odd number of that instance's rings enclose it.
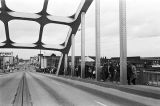
<instances>
[{"instance_id":1,"label":"whole steel arch bridge with its posts and roadway","mask_svg":"<svg viewBox=\"0 0 160 106\"><path fill-rule=\"evenodd\" d=\"M96 80L85 79L85 14L95 2ZM4 24L6 39L0 48L40 49L61 52L56 75L37 73L34 67L24 64L14 73L0 74L0 105L14 106L158 106L159 88L143 85L127 85L126 1L119 0L120 30L120 83L100 82L100 0L82 0L75 14L53 16L47 13L49 0L44 0L38 13L22 13L11 10L6 0L1 0L0 20ZM39 36L32 44L16 43L10 37L9 22L27 20L40 25ZM47 24L69 26L62 44L48 45L42 41ZM81 78L74 77L75 36L81 25ZM68 53L71 53L71 76L65 76ZM24 68L25 67L25 68ZM63 75L60 75L63 73ZM147 72L146 72L147 73ZM157 75L157 74L156 74ZM158 77L157 77L158 79Z\"/></svg>"}]
</instances>

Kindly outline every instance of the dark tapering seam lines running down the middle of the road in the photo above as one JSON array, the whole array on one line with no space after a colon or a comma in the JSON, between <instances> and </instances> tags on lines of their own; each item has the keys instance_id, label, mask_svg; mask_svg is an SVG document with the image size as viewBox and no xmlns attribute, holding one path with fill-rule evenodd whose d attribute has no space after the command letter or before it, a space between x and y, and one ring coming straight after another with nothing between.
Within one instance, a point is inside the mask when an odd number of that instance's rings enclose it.
<instances>
[{"instance_id":1,"label":"dark tapering seam lines running down the middle of the road","mask_svg":"<svg viewBox=\"0 0 160 106\"><path fill-rule=\"evenodd\" d=\"M25 72L19 82L12 104L13 106L33 106Z\"/></svg>"}]
</instances>

